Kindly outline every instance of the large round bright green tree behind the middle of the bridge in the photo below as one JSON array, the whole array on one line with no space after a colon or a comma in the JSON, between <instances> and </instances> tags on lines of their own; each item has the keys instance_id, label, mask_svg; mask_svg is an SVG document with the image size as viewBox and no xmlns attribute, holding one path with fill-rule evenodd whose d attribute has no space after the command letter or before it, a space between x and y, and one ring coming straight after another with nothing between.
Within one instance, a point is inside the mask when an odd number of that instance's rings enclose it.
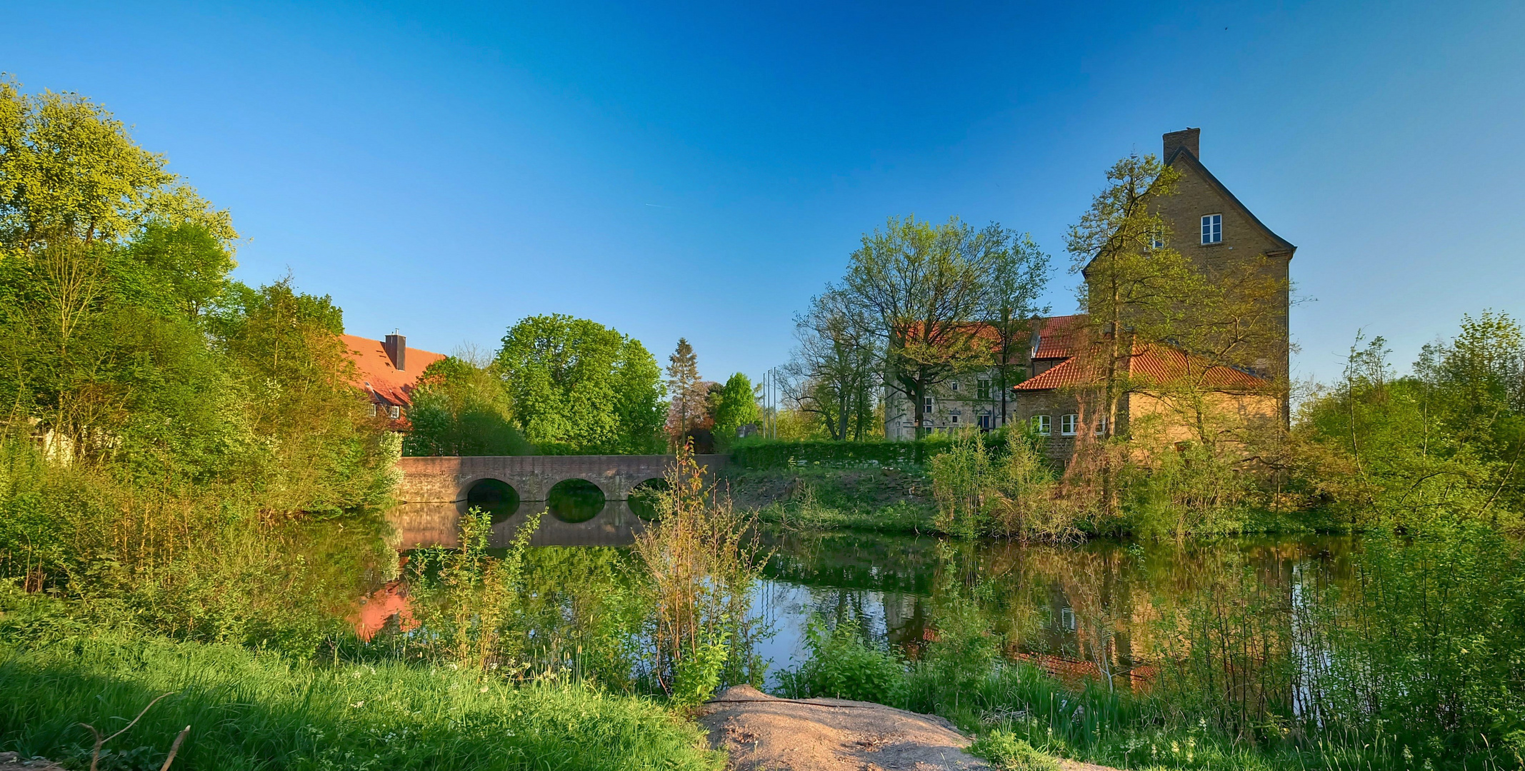
<instances>
[{"instance_id":1,"label":"large round bright green tree behind the middle of the bridge","mask_svg":"<svg viewBox=\"0 0 1525 771\"><path fill-rule=\"evenodd\" d=\"M660 370L640 341L586 318L532 315L494 360L514 424L541 451L644 453L660 427Z\"/></svg>"}]
</instances>

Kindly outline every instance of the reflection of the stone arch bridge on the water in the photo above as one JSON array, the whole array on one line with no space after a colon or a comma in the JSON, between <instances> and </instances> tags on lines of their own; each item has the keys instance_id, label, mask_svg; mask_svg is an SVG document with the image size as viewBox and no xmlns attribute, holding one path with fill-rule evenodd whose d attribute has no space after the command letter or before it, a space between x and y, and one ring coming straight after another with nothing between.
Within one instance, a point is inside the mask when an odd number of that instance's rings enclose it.
<instances>
[{"instance_id":1,"label":"reflection of the stone arch bridge on the water","mask_svg":"<svg viewBox=\"0 0 1525 771\"><path fill-rule=\"evenodd\" d=\"M458 501L404 503L393 507L387 512L387 518L396 529L398 549L459 547L459 520L467 512L467 501ZM636 533L645 524L645 520L630 509L627 500L604 501L602 510L592 520L581 523L557 518L546 501L523 501L514 513L503 518L494 517L488 545L502 549L511 544L518 535L518 529L535 513L540 515L540 527L535 529L535 535L529 536L531 545L628 545L636 541Z\"/></svg>"}]
</instances>

